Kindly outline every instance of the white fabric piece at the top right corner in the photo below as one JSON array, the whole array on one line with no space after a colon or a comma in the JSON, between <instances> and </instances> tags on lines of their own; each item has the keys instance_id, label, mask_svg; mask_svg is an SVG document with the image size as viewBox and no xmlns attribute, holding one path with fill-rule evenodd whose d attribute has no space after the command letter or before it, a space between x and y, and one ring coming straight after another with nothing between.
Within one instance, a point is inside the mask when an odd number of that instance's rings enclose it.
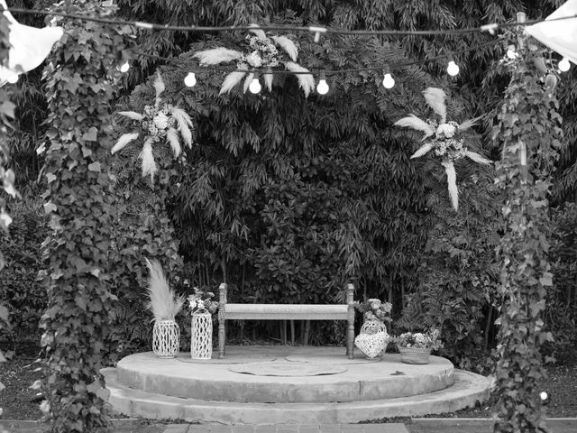
<instances>
[{"instance_id":1,"label":"white fabric piece at the top right corner","mask_svg":"<svg viewBox=\"0 0 577 433\"><path fill-rule=\"evenodd\" d=\"M564 16L574 18L558 19ZM553 14L547 16L544 23L529 25L525 32L577 65L577 0L565 2Z\"/></svg>"}]
</instances>

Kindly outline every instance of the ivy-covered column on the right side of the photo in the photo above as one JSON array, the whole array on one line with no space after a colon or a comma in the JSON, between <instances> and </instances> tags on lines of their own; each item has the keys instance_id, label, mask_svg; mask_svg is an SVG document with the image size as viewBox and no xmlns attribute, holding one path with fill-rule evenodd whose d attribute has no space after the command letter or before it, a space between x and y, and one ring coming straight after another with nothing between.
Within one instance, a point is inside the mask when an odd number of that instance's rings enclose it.
<instances>
[{"instance_id":1,"label":"ivy-covered column on the right side of the photo","mask_svg":"<svg viewBox=\"0 0 577 433\"><path fill-rule=\"evenodd\" d=\"M542 318L546 291L553 284L546 227L551 174L562 137L556 77L548 73L552 68L545 63L545 53L520 32L508 36L509 44L518 43L517 57L504 60L511 80L494 128L503 146L496 181L506 198L506 230L499 251L495 392L500 420L495 431L511 433L547 431L537 383L545 376L540 346L551 339Z\"/></svg>"}]
</instances>

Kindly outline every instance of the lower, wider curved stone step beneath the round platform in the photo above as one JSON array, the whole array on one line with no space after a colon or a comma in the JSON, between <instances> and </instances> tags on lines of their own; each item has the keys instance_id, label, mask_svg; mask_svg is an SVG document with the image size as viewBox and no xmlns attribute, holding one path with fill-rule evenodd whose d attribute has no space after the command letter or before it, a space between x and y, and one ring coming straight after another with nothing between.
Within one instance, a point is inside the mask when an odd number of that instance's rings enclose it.
<instances>
[{"instance_id":1,"label":"lower, wider curved stone step beneath the round platform","mask_svg":"<svg viewBox=\"0 0 577 433\"><path fill-rule=\"evenodd\" d=\"M201 401L128 388L118 382L114 368L103 373L111 392L109 402L124 415L228 425L346 424L414 417L460 410L486 400L490 393L489 379L455 370L453 385L444 390L394 399L314 404Z\"/></svg>"}]
</instances>

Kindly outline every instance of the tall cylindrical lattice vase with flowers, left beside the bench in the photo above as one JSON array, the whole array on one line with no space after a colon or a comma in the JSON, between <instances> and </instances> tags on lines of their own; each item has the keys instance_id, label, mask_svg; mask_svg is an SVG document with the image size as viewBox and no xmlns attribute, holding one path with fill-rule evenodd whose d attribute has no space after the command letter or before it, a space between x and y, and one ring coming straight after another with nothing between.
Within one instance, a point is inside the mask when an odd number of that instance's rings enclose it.
<instances>
[{"instance_id":1,"label":"tall cylindrical lattice vase with flowers, left beside the bench","mask_svg":"<svg viewBox=\"0 0 577 433\"><path fill-rule=\"evenodd\" d=\"M213 314L218 309L218 302L213 292L197 287L194 290L194 294L188 296L188 308L192 316L190 357L210 359L213 355Z\"/></svg>"}]
</instances>

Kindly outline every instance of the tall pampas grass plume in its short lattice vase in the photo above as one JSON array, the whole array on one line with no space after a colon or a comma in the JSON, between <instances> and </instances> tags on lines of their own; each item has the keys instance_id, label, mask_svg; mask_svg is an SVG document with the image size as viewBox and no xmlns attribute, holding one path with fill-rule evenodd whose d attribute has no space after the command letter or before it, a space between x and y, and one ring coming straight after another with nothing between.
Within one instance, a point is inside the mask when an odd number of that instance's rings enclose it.
<instances>
[{"instance_id":1,"label":"tall pampas grass plume in its short lattice vase","mask_svg":"<svg viewBox=\"0 0 577 433\"><path fill-rule=\"evenodd\" d=\"M162 266L156 260L146 260L150 272L148 280L148 308L154 316L152 351L161 358L173 358L179 353L180 329L175 318L184 306L184 297L177 297L169 287Z\"/></svg>"}]
</instances>

